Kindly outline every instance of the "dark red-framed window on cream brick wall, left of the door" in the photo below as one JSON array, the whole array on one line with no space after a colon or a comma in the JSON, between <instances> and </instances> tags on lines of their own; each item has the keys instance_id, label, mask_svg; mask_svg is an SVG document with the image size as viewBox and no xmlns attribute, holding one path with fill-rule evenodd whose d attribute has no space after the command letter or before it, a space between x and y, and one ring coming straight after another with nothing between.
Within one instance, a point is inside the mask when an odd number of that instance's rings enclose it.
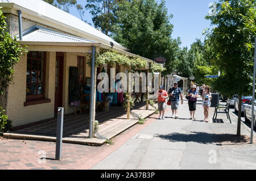
<instances>
[{"instance_id":1,"label":"dark red-framed window on cream brick wall, left of the door","mask_svg":"<svg viewBox=\"0 0 256 181\"><path fill-rule=\"evenodd\" d=\"M46 52L28 52L26 102L44 99Z\"/></svg>"}]
</instances>

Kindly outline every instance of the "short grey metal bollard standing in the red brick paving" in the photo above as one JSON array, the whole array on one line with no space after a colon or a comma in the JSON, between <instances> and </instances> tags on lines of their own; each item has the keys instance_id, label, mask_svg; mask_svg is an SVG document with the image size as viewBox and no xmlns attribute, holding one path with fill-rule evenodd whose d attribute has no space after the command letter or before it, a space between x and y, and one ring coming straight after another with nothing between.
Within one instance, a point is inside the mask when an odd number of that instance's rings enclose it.
<instances>
[{"instance_id":1,"label":"short grey metal bollard standing in the red brick paving","mask_svg":"<svg viewBox=\"0 0 256 181\"><path fill-rule=\"evenodd\" d=\"M58 107L55 159L61 159L64 108Z\"/></svg>"}]
</instances>

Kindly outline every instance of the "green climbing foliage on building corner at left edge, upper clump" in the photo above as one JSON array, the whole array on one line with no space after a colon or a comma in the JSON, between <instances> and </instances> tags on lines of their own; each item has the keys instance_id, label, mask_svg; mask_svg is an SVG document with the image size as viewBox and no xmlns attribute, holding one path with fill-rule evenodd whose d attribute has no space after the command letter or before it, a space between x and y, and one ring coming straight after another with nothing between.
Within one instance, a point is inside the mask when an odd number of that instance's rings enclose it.
<instances>
[{"instance_id":1,"label":"green climbing foliage on building corner at left edge, upper clump","mask_svg":"<svg viewBox=\"0 0 256 181\"><path fill-rule=\"evenodd\" d=\"M25 52L16 38L11 38L5 31L6 22L0 10L0 95L5 92L9 82L13 79L13 66L18 63L20 56Z\"/></svg>"}]
</instances>

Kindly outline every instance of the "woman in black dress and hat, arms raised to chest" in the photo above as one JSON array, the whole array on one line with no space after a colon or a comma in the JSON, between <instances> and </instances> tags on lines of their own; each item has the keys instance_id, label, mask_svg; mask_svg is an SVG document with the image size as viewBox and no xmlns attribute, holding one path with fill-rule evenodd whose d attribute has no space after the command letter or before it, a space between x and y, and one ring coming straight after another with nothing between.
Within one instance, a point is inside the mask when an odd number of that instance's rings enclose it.
<instances>
[{"instance_id":1,"label":"woman in black dress and hat, arms raised to chest","mask_svg":"<svg viewBox=\"0 0 256 181\"><path fill-rule=\"evenodd\" d=\"M189 111L190 111L190 119L196 119L195 118L195 112L196 112L196 101L198 98L198 91L196 90L196 85L193 85L191 87L191 89L188 90L188 94L187 96L189 96L188 99L188 107L189 107Z\"/></svg>"}]
</instances>

